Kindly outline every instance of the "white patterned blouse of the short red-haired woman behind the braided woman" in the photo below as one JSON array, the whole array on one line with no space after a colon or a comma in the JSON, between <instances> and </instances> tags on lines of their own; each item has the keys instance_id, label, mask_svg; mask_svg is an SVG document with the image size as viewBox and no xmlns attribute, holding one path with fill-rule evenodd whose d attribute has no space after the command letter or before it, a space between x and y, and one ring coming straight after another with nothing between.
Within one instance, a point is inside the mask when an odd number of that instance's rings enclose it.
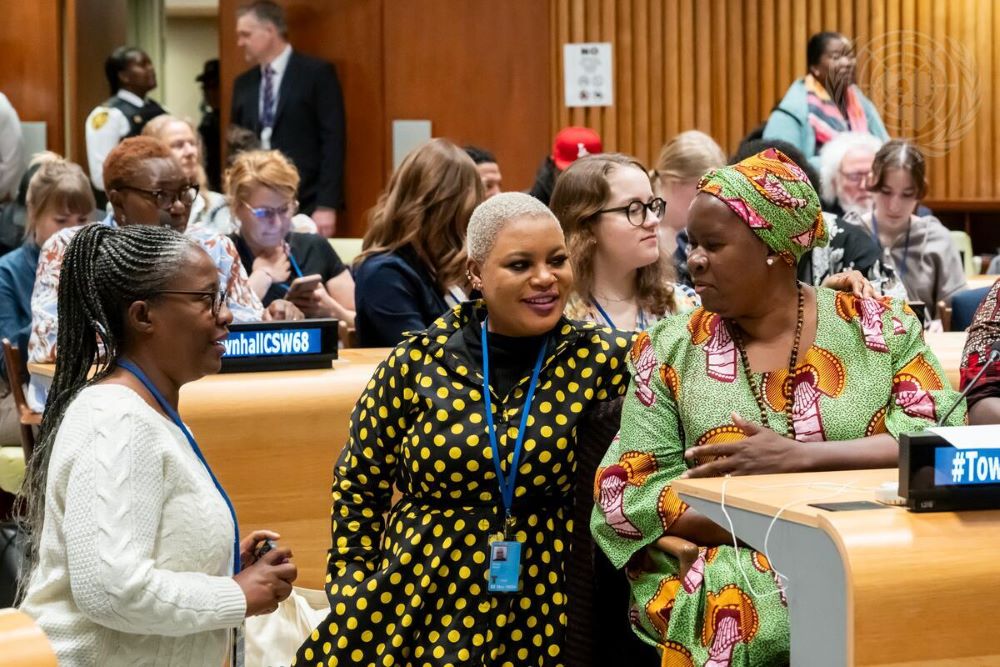
<instances>
[{"instance_id":1,"label":"white patterned blouse of the short red-haired woman behind the braided woman","mask_svg":"<svg viewBox=\"0 0 1000 667\"><path fill-rule=\"evenodd\" d=\"M101 224L114 226L111 216ZM31 337L28 340L28 361L51 364L56 360L58 337L59 270L69 242L80 227L71 227L55 234L42 247L35 274L35 289L31 293ZM219 287L228 294L226 304L233 311L234 322L257 322L264 306L250 289L247 273L240 263L236 246L225 236L207 230L188 229L185 235L200 245L219 269Z\"/></svg>"}]
</instances>

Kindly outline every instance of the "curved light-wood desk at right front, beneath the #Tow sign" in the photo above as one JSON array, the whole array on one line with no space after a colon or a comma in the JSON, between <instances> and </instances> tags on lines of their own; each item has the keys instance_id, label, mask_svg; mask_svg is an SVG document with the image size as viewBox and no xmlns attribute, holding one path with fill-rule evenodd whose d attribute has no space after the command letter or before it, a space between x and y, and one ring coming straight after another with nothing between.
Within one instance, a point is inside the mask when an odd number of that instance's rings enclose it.
<instances>
[{"instance_id":1,"label":"curved light-wood desk at right front, beneath the #Tow sign","mask_svg":"<svg viewBox=\"0 0 1000 667\"><path fill-rule=\"evenodd\" d=\"M891 470L676 480L688 504L788 577L792 665L998 665L1000 510L829 512ZM780 511L779 518L773 517Z\"/></svg>"}]
</instances>

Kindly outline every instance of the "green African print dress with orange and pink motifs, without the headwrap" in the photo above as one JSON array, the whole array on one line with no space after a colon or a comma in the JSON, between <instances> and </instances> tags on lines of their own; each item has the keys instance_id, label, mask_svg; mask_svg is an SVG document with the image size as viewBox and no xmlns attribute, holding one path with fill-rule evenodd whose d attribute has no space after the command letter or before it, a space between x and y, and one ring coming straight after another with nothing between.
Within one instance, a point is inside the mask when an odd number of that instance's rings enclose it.
<instances>
[{"instance_id":1,"label":"green African print dress with orange and pink motifs, without the headwrap","mask_svg":"<svg viewBox=\"0 0 1000 667\"><path fill-rule=\"evenodd\" d=\"M897 437L931 425L951 406L957 393L925 345L912 311L900 302L858 299L823 288L816 295L816 342L793 379L797 440L820 443L879 433ZM598 545L616 567L626 566L686 511L671 488L686 468L684 450L743 439L731 421L733 411L751 421L760 418L727 327L703 308L640 334L632 347L631 370L619 436L597 471L591 521ZM765 393L768 426L778 433L787 432L782 391L787 373L756 375ZM964 418L962 405L949 423ZM664 664L723 667L788 661L785 593L762 554L728 546L703 548L680 580L676 560L648 551L654 571L627 570L631 618L639 636L671 658Z\"/></svg>"}]
</instances>

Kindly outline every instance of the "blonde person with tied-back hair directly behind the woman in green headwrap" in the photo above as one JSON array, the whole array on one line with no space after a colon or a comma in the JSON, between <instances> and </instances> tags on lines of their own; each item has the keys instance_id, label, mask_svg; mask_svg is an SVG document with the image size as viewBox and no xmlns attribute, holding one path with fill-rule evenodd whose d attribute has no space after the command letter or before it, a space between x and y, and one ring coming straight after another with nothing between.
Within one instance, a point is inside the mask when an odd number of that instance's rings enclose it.
<instances>
[{"instance_id":1,"label":"blonde person with tied-back hair directly behind the woman in green headwrap","mask_svg":"<svg viewBox=\"0 0 1000 667\"><path fill-rule=\"evenodd\" d=\"M681 132L660 149L650 172L653 191L667 202L660 221L663 248L673 253L678 282L691 285L687 270L688 208L698 192L698 181L711 169L726 164L726 155L712 137L698 130Z\"/></svg>"}]
</instances>

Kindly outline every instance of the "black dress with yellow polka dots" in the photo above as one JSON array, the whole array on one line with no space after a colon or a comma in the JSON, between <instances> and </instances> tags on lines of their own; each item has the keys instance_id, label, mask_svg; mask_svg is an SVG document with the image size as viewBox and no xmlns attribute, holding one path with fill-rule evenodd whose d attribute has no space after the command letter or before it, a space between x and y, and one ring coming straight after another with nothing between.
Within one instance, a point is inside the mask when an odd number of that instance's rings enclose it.
<instances>
[{"instance_id":1,"label":"black dress with yellow polka dots","mask_svg":"<svg viewBox=\"0 0 1000 667\"><path fill-rule=\"evenodd\" d=\"M462 331L485 314L462 304L404 340L358 400L334 470L331 612L293 664L564 664L576 424L624 393L629 341L565 319L550 336L514 492L521 589L491 593L502 504L481 365ZM505 473L530 370L506 396L492 394ZM390 509L393 485L402 498Z\"/></svg>"}]
</instances>

